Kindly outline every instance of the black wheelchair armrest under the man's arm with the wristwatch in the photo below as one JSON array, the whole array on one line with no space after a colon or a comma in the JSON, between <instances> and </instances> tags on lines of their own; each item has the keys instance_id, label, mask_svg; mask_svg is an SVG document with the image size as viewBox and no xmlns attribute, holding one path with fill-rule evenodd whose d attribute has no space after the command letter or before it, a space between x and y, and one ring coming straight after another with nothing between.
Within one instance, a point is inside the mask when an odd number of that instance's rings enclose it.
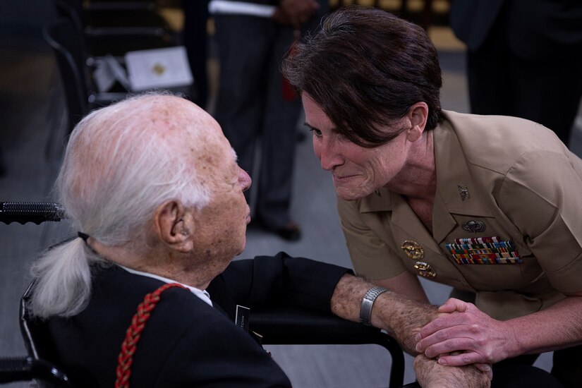
<instances>
[{"instance_id":1,"label":"black wheelchair armrest under the man's arm with the wristwatch","mask_svg":"<svg viewBox=\"0 0 582 388\"><path fill-rule=\"evenodd\" d=\"M404 382L404 352L398 342L375 327L341 319L331 313L276 307L253 309L249 328L262 336L263 344L377 344L390 352L390 387Z\"/></svg>"}]
</instances>

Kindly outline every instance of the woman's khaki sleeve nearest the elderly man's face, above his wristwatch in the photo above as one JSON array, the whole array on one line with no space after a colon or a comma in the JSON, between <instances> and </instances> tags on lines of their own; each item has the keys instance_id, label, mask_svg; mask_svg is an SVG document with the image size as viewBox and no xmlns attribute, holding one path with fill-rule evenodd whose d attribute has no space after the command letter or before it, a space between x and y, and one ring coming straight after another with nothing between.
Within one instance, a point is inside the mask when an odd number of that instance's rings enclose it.
<instances>
[{"instance_id":1,"label":"woman's khaki sleeve nearest the elderly man's face, above his wristwatch","mask_svg":"<svg viewBox=\"0 0 582 388\"><path fill-rule=\"evenodd\" d=\"M362 214L357 201L337 198L341 229L346 237L348 252L356 274L367 279L388 279L406 271L406 267L387 243L363 220L375 221L377 213ZM377 226L380 230L381 226ZM382 230L384 236L389 231Z\"/></svg>"}]
</instances>

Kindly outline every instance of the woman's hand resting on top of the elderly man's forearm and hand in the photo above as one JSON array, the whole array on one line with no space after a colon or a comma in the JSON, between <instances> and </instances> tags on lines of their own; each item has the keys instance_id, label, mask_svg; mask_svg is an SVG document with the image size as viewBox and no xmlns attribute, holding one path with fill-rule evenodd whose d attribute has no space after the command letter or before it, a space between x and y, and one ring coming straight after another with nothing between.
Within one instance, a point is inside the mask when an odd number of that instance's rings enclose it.
<instances>
[{"instance_id":1,"label":"woman's hand resting on top of the elderly man's forearm and hand","mask_svg":"<svg viewBox=\"0 0 582 388\"><path fill-rule=\"evenodd\" d=\"M472 303L451 298L438 309L437 319L420 329L416 351L439 356L440 365L497 363L516 356L518 341L508 322L494 320ZM460 351L450 355L449 353Z\"/></svg>"}]
</instances>

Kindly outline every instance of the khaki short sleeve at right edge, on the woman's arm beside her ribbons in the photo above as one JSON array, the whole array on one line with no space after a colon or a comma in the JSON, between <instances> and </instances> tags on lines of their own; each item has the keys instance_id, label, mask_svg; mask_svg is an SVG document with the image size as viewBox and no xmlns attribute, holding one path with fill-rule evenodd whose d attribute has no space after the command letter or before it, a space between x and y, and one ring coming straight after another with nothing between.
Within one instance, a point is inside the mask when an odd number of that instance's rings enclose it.
<instances>
[{"instance_id":1,"label":"khaki short sleeve at right edge, on the woman's arm beside her ribbons","mask_svg":"<svg viewBox=\"0 0 582 388\"><path fill-rule=\"evenodd\" d=\"M508 171L500 209L521 231L552 285L582 291L582 162L559 152L530 152Z\"/></svg>"}]
</instances>

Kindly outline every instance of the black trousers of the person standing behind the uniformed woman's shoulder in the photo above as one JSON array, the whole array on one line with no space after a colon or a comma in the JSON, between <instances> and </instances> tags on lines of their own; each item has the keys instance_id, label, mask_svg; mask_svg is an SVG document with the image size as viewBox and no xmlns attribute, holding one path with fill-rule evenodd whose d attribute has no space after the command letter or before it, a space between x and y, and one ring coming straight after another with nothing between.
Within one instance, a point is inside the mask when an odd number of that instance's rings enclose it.
<instances>
[{"instance_id":1,"label":"black trousers of the person standing behind the uniformed woman's shoulder","mask_svg":"<svg viewBox=\"0 0 582 388\"><path fill-rule=\"evenodd\" d=\"M582 96L582 53L555 48L521 58L507 44L500 18L485 43L467 52L471 113L516 116L550 128L566 145Z\"/></svg>"}]
</instances>

